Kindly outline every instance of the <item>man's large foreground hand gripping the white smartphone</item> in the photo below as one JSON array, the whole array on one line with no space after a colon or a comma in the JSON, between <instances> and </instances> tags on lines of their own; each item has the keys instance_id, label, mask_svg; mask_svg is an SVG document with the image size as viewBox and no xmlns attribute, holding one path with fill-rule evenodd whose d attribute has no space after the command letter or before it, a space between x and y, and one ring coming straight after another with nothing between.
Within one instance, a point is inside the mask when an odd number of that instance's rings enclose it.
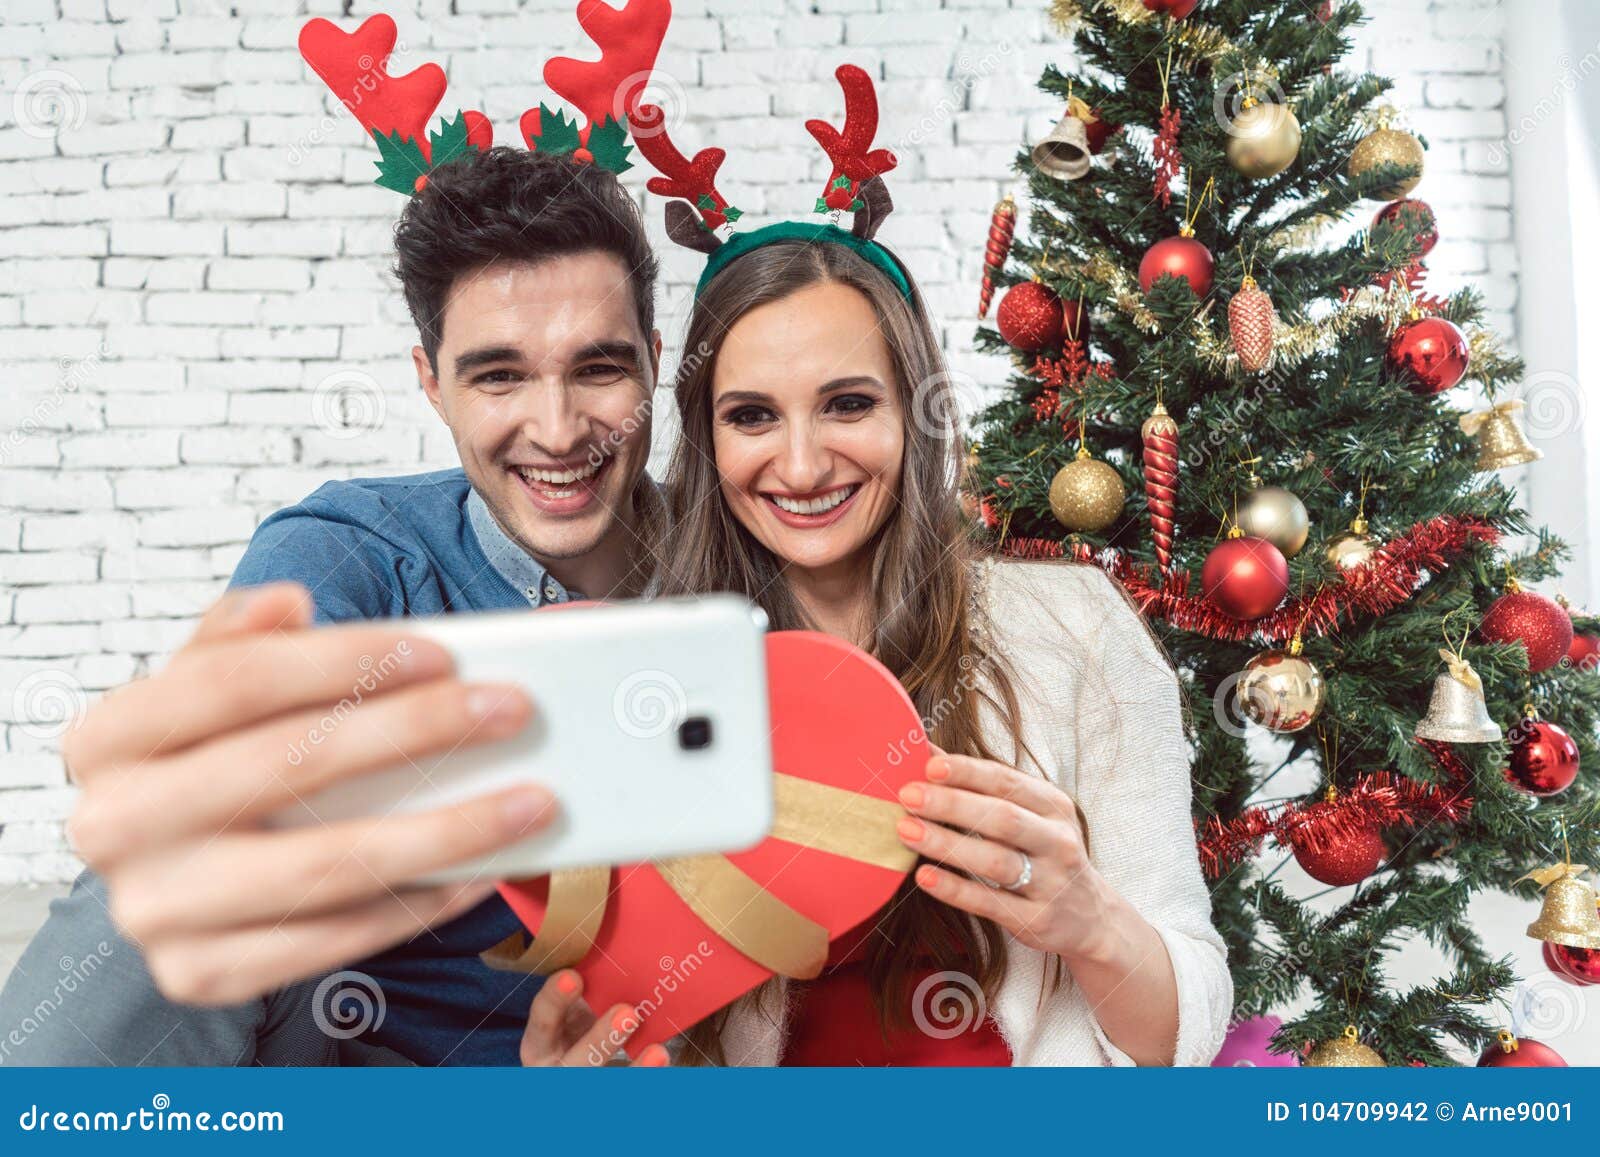
<instances>
[{"instance_id":1,"label":"man's large foreground hand gripping the white smartphone","mask_svg":"<svg viewBox=\"0 0 1600 1157\"><path fill-rule=\"evenodd\" d=\"M312 629L293 583L234 591L150 679L67 736L72 842L157 986L235 1003L358 960L483 901L491 880L406 887L546 827L523 786L411 815L275 831L326 784L502 739L533 714L464 685L450 653L397 624Z\"/></svg>"}]
</instances>

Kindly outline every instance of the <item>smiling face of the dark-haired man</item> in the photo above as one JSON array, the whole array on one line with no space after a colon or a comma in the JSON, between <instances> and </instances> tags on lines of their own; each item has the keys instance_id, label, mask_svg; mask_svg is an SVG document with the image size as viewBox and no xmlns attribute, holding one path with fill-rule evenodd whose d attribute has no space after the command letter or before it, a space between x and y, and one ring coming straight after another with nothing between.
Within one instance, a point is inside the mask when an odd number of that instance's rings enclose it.
<instances>
[{"instance_id":1,"label":"smiling face of the dark-haired man","mask_svg":"<svg viewBox=\"0 0 1600 1157\"><path fill-rule=\"evenodd\" d=\"M650 456L659 333L643 333L627 267L610 253L496 262L445 306L438 373L411 352L496 522L544 562L627 533Z\"/></svg>"}]
</instances>

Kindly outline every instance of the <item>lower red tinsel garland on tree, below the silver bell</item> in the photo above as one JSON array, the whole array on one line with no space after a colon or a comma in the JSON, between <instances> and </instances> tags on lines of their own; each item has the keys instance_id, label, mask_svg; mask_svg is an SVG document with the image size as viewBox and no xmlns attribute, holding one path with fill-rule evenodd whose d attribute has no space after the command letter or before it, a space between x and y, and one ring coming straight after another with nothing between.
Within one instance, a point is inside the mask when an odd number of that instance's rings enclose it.
<instances>
[{"instance_id":1,"label":"lower red tinsel garland on tree, below the silver bell","mask_svg":"<svg viewBox=\"0 0 1600 1157\"><path fill-rule=\"evenodd\" d=\"M1283 848L1296 843L1322 850L1331 842L1373 827L1405 824L1416 827L1429 819L1458 823L1472 811L1467 794L1470 773L1450 744L1418 739L1450 781L1435 787L1394 771L1374 771L1333 800L1315 803L1270 803L1250 808L1234 819L1211 816L1195 824L1200 843L1200 866L1216 879L1224 869L1261 851L1270 837Z\"/></svg>"}]
</instances>

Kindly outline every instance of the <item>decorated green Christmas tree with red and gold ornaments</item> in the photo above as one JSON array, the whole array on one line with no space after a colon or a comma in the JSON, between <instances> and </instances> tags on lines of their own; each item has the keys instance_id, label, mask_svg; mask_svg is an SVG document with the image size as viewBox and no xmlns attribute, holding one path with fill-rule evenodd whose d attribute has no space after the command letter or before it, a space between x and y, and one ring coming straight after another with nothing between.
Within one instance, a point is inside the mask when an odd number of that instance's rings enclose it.
<instances>
[{"instance_id":1,"label":"decorated green Christmas tree with red and gold ornaments","mask_svg":"<svg viewBox=\"0 0 1600 1157\"><path fill-rule=\"evenodd\" d=\"M1448 222L1389 82L1341 64L1358 3L1053 14L1066 112L986 253L978 344L1014 374L968 456L978 533L1104 566L1173 656L1235 1019L1309 1003L1270 1050L1312 1064L1493 1063L1515 946L1474 893L1600 979L1600 621L1536 592L1566 549L1501 472L1538 456L1523 365L1474 290L1424 288ZM1413 938L1446 968L1405 987Z\"/></svg>"}]
</instances>

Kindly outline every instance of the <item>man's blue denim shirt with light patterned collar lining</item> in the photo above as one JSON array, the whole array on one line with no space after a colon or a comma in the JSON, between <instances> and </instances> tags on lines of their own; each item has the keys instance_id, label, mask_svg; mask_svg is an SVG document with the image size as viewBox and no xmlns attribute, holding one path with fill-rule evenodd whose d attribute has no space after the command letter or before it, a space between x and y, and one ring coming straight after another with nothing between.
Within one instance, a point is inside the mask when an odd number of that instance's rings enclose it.
<instances>
[{"instance_id":1,"label":"man's blue denim shirt with light patterned collar lining","mask_svg":"<svg viewBox=\"0 0 1600 1157\"><path fill-rule=\"evenodd\" d=\"M330 482L256 530L230 586L312 591L317 621L493 611L571 595L499 528L462 470ZM365 1034L418 1064L517 1064L541 979L478 952L522 923L499 896L350 968L384 999Z\"/></svg>"}]
</instances>

